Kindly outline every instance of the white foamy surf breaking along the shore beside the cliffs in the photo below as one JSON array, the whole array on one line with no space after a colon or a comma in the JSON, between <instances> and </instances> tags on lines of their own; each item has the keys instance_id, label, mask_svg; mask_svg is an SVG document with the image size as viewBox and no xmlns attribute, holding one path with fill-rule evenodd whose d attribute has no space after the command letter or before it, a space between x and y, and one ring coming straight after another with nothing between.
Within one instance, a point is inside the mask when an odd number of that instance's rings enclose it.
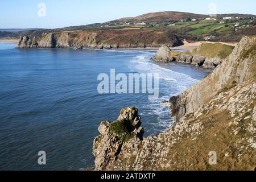
<instances>
[{"instance_id":1,"label":"white foamy surf breaking along the shore beside the cliffs","mask_svg":"<svg viewBox=\"0 0 256 182\"><path fill-rule=\"evenodd\" d=\"M138 73L158 73L159 74L159 92L160 97L156 100L150 100L150 104L143 105L144 113L141 115L156 115L157 121L152 124L150 133L154 133L157 127L161 131L165 131L172 125L172 118L170 118L170 111L167 107L160 107L160 102L169 100L171 96L175 96L184 92L188 87L196 84L199 80L192 78L184 73L171 71L167 68L162 68L153 63L150 58L154 56L154 52L140 52L135 56L128 65L133 72Z\"/></svg>"}]
</instances>

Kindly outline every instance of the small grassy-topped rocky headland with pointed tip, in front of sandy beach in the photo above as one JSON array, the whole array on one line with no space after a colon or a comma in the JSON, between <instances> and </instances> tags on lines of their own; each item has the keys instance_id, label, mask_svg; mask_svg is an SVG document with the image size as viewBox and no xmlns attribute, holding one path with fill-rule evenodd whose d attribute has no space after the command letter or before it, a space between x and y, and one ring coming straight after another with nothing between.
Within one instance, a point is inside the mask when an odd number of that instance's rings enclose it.
<instances>
[{"instance_id":1,"label":"small grassy-topped rocky headland with pointed tip, in front of sandy beach","mask_svg":"<svg viewBox=\"0 0 256 182\"><path fill-rule=\"evenodd\" d=\"M162 63L177 62L193 64L203 68L216 68L232 51L232 46L220 43L203 43L192 52L175 52L171 51L168 46L163 45L152 57L152 60Z\"/></svg>"}]
</instances>

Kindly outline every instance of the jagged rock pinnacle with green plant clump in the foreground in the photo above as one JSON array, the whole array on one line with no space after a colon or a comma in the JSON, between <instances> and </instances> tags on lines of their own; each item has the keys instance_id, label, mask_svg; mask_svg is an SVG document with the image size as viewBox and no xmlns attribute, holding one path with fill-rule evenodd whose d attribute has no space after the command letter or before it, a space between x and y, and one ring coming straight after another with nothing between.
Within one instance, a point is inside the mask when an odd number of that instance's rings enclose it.
<instances>
[{"instance_id":1,"label":"jagged rock pinnacle with green plant clump in the foreground","mask_svg":"<svg viewBox=\"0 0 256 182\"><path fill-rule=\"evenodd\" d=\"M141 117L135 107L122 109L117 121L113 123L101 122L98 131L101 135L93 143L96 170L114 165L119 155L136 155L144 134Z\"/></svg>"}]
</instances>

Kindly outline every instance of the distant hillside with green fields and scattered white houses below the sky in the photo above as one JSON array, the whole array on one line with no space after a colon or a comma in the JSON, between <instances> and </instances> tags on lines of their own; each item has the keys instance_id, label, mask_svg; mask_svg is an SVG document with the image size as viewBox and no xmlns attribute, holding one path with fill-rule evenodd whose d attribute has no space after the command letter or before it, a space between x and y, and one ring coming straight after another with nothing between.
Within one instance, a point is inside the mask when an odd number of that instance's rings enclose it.
<instances>
[{"instance_id":1,"label":"distant hillside with green fields and scattered white houses below the sky","mask_svg":"<svg viewBox=\"0 0 256 182\"><path fill-rule=\"evenodd\" d=\"M230 17L229 19L224 19ZM171 36L188 42L209 40L212 42L239 42L245 35L256 35L256 16L246 14L219 14L216 17L175 11L164 11L121 18L105 23L94 23L55 29L38 29L10 32L0 30L0 38L43 36L65 31L103 30L154 30L165 31Z\"/></svg>"}]
</instances>

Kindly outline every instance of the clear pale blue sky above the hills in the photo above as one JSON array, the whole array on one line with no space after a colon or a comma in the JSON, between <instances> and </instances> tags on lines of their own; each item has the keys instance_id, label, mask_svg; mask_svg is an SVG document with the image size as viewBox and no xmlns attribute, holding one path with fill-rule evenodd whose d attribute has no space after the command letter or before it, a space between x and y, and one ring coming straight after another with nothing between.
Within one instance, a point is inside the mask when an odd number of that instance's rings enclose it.
<instances>
[{"instance_id":1,"label":"clear pale blue sky above the hills","mask_svg":"<svg viewBox=\"0 0 256 182\"><path fill-rule=\"evenodd\" d=\"M45 3L46 16L38 16L39 3ZM57 28L137 16L156 11L184 11L208 14L216 3L217 14L256 14L255 0L1 0L0 28Z\"/></svg>"}]
</instances>

